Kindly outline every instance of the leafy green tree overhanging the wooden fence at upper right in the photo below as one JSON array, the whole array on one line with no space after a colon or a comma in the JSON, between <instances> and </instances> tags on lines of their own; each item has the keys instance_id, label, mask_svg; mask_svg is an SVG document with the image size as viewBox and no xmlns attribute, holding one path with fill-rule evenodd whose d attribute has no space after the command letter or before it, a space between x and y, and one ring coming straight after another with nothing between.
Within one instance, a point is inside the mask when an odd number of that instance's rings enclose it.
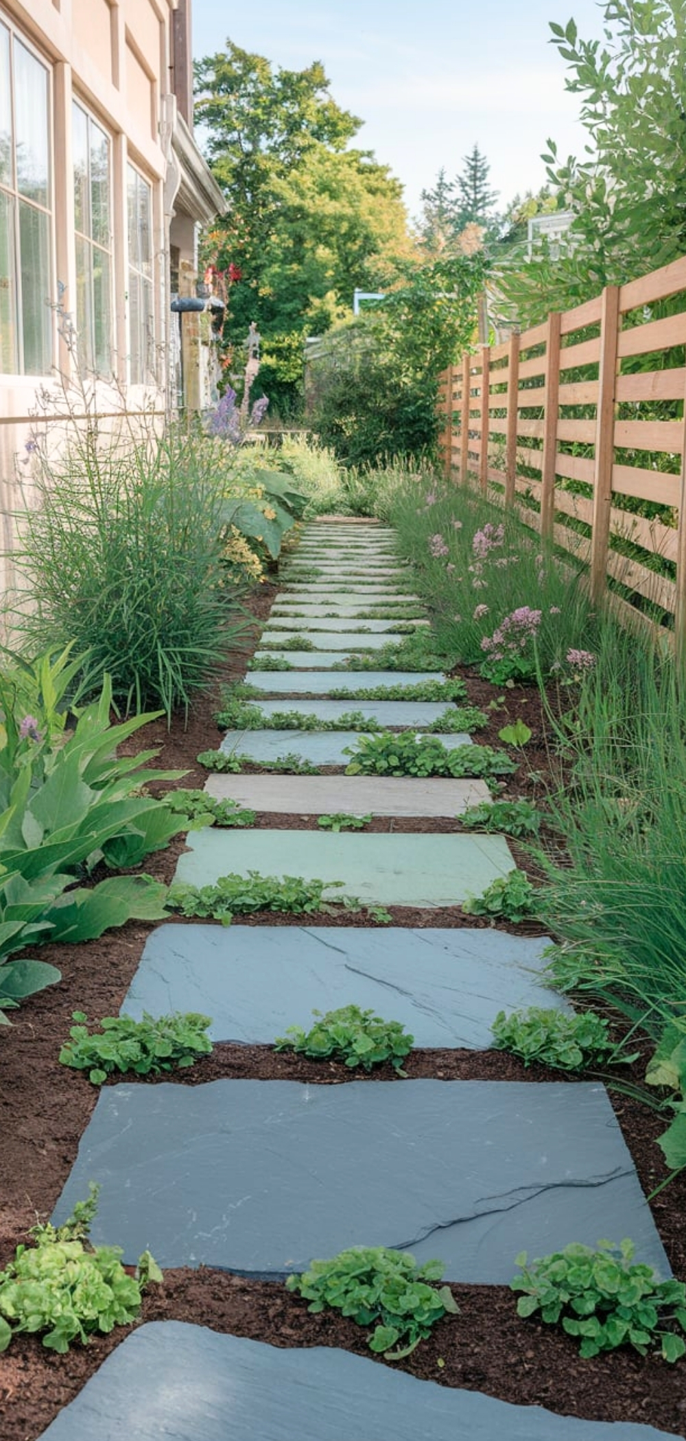
<instances>
[{"instance_id":1,"label":"leafy green tree overhanging the wooden fence at upper right","mask_svg":"<svg viewBox=\"0 0 686 1441\"><path fill-rule=\"evenodd\" d=\"M605 42L551 24L582 97L584 160L543 160L574 223L559 255L542 244L503 269L500 285L525 324L565 310L607 284L666 265L686 251L686 9L683 0L605 0Z\"/></svg>"}]
</instances>

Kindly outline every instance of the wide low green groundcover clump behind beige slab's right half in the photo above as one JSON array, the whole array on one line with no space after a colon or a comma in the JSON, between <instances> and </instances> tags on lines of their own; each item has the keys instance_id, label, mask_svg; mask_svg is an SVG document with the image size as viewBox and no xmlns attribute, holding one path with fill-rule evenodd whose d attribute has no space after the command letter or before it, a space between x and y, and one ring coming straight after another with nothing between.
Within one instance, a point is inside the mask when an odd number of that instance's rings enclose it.
<instances>
[{"instance_id":1,"label":"wide low green groundcover clump behind beige slab's right half","mask_svg":"<svg viewBox=\"0 0 686 1441\"><path fill-rule=\"evenodd\" d=\"M362 736L346 748L353 759L346 775L512 775L514 761L489 745L457 745L447 749L437 738L405 731Z\"/></svg>"}]
</instances>

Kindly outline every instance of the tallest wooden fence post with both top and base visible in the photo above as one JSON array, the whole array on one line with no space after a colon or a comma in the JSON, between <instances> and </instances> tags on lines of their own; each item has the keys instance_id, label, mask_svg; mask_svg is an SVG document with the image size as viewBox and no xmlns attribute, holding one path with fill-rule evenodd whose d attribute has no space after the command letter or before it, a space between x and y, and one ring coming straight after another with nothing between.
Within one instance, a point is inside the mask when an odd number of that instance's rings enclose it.
<instances>
[{"instance_id":1,"label":"tallest wooden fence post with both top and base visible","mask_svg":"<svg viewBox=\"0 0 686 1441\"><path fill-rule=\"evenodd\" d=\"M598 414L595 419L594 516L591 536L591 599L597 604L607 589L610 509L612 504L614 392L620 334L620 288L605 285L601 311Z\"/></svg>"}]
</instances>

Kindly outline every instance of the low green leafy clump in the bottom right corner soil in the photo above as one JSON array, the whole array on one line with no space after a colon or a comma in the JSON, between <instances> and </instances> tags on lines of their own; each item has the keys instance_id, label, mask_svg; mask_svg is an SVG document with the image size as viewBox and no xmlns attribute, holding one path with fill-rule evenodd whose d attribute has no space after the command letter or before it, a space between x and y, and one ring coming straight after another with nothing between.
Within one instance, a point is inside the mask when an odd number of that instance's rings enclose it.
<instances>
[{"instance_id":1,"label":"low green leafy clump in the bottom right corner soil","mask_svg":"<svg viewBox=\"0 0 686 1441\"><path fill-rule=\"evenodd\" d=\"M679 1360L686 1353L679 1334L686 1331L686 1285L660 1281L651 1267L633 1262L634 1251L631 1241L600 1241L595 1251L575 1242L530 1265L523 1251L516 1258L522 1275L510 1281L523 1293L517 1314L562 1323L585 1359L625 1344L641 1356L659 1347L664 1360Z\"/></svg>"}]
</instances>

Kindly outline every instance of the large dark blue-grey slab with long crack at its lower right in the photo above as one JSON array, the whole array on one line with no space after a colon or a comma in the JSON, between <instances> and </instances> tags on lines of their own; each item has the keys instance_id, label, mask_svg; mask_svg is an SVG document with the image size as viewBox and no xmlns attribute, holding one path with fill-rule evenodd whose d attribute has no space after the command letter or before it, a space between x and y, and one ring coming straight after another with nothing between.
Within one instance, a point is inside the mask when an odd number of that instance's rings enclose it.
<instances>
[{"instance_id":1,"label":"large dark blue-grey slab with long crack at its lower right","mask_svg":"<svg viewBox=\"0 0 686 1441\"><path fill-rule=\"evenodd\" d=\"M101 1186L95 1245L124 1262L304 1270L353 1245L438 1257L448 1281L503 1285L522 1248L631 1236L669 1264L597 1082L210 1081L105 1087L59 1197Z\"/></svg>"}]
</instances>

